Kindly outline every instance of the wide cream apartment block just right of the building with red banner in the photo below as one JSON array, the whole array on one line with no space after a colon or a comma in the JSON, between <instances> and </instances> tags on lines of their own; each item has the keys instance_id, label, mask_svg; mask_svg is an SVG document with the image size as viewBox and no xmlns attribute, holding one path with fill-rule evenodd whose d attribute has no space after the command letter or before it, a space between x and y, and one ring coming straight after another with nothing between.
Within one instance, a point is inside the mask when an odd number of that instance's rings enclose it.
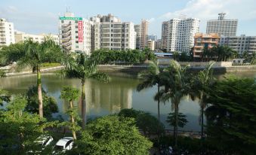
<instances>
[{"instance_id":1,"label":"wide cream apartment block just right of the building with red banner","mask_svg":"<svg viewBox=\"0 0 256 155\"><path fill-rule=\"evenodd\" d=\"M109 50L135 49L134 24L121 22L112 14L91 17L94 23L94 49L105 48Z\"/></svg>"}]
</instances>

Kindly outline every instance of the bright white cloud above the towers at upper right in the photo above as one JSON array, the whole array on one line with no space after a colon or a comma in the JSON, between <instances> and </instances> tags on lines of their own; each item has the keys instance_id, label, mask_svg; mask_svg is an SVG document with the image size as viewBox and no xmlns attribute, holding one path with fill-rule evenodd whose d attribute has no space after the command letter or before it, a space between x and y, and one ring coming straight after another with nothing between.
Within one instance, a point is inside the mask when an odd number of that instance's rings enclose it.
<instances>
[{"instance_id":1,"label":"bright white cloud above the towers at upper right","mask_svg":"<svg viewBox=\"0 0 256 155\"><path fill-rule=\"evenodd\" d=\"M218 13L225 12L229 18L254 20L255 5L255 0L191 0L185 8L163 14L160 18L169 20L182 14L200 20L212 20L217 19Z\"/></svg>"}]
</instances>

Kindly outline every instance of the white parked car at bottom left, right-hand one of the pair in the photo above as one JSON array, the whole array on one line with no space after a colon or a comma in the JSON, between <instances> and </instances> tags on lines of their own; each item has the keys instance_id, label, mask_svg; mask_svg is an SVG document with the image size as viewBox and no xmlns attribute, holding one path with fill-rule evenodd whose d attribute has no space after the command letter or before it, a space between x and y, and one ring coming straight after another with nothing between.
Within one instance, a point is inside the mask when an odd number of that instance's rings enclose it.
<instances>
[{"instance_id":1,"label":"white parked car at bottom left, right-hand one of the pair","mask_svg":"<svg viewBox=\"0 0 256 155\"><path fill-rule=\"evenodd\" d=\"M61 138L54 146L54 153L65 152L66 150L71 150L74 144L74 138L64 137Z\"/></svg>"}]
</instances>

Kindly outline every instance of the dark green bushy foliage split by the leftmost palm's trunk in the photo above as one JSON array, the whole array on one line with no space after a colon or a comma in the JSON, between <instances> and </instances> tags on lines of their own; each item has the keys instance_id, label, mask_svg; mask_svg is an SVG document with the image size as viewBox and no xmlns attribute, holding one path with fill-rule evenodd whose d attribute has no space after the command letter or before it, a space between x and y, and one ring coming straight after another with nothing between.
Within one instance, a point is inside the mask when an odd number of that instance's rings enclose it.
<instances>
[{"instance_id":1,"label":"dark green bushy foliage split by the leftmost palm's trunk","mask_svg":"<svg viewBox=\"0 0 256 155\"><path fill-rule=\"evenodd\" d=\"M39 101L38 101L38 92L37 87L29 87L25 96L28 101L26 105L26 111L38 114L39 113ZM48 96L47 92L42 88L42 99L43 99L43 110L44 116L47 119L52 119L51 114L57 113L57 102L52 96Z\"/></svg>"}]
</instances>

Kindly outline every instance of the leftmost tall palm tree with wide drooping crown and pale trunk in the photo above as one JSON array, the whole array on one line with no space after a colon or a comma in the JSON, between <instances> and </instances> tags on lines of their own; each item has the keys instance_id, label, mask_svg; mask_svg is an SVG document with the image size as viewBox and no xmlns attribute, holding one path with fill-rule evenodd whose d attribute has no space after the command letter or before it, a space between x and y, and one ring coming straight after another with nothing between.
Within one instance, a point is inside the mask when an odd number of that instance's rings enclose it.
<instances>
[{"instance_id":1,"label":"leftmost tall palm tree with wide drooping crown and pale trunk","mask_svg":"<svg viewBox=\"0 0 256 155\"><path fill-rule=\"evenodd\" d=\"M23 52L19 53L17 60L17 69L20 68L35 68L37 74L37 87L38 87L38 100L39 100L39 116L43 117L43 101L42 101L42 78L41 78L41 66L45 62L60 62L63 53L60 46L55 44L51 38L45 38L45 40L39 44L31 39L24 41ZM18 51L20 52L20 51ZM2 59L5 62L11 62L11 56L13 53L5 53Z\"/></svg>"}]
</instances>

